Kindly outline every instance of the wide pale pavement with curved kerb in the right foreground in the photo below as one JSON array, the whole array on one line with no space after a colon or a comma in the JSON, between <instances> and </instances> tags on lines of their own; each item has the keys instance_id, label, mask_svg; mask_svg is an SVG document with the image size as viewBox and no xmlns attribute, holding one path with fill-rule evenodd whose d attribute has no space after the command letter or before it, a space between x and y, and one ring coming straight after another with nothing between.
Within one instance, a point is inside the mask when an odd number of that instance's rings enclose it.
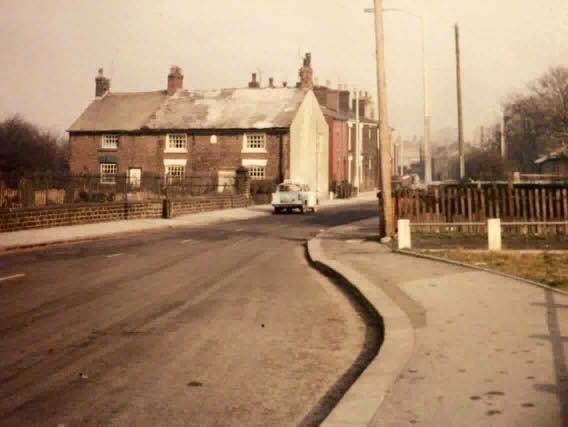
<instances>
[{"instance_id":1,"label":"wide pale pavement with curved kerb in the right foreground","mask_svg":"<svg viewBox=\"0 0 568 427\"><path fill-rule=\"evenodd\" d=\"M362 280L363 294L380 299L377 361L389 366L371 364L323 425L568 425L568 297L392 253L376 229L367 220L319 242L326 259Z\"/></svg>"}]
</instances>

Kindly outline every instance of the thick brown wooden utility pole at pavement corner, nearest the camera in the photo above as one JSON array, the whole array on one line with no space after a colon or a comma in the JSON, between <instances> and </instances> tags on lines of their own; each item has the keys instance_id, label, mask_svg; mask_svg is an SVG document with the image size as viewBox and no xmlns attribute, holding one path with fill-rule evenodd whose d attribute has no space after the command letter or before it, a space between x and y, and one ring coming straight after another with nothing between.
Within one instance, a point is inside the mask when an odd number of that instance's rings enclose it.
<instances>
[{"instance_id":1,"label":"thick brown wooden utility pole at pavement corner, nearest the camera","mask_svg":"<svg viewBox=\"0 0 568 427\"><path fill-rule=\"evenodd\" d=\"M383 27L383 0L375 1L375 38L377 61L377 102L379 112L379 150L382 209L379 212L380 236L390 238L394 235L394 210L392 206L391 141L387 108L387 82L385 73L385 41Z\"/></svg>"}]
</instances>

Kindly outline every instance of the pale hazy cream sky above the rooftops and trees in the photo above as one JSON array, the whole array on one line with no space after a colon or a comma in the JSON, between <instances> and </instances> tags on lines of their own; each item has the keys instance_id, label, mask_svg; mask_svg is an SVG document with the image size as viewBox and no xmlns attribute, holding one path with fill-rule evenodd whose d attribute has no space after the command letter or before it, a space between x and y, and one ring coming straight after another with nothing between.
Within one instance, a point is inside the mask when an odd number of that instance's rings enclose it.
<instances>
[{"instance_id":1,"label":"pale hazy cream sky above the rooftops and trees","mask_svg":"<svg viewBox=\"0 0 568 427\"><path fill-rule=\"evenodd\" d=\"M94 98L103 67L111 91L297 81L312 53L320 84L376 93L372 0L0 0L0 120L21 114L64 133ZM432 130L457 127L454 24L461 37L466 137L500 103L551 66L568 66L568 0L384 0L423 16ZM420 20L386 11L390 125L422 135ZM375 97L376 99L376 97Z\"/></svg>"}]
</instances>

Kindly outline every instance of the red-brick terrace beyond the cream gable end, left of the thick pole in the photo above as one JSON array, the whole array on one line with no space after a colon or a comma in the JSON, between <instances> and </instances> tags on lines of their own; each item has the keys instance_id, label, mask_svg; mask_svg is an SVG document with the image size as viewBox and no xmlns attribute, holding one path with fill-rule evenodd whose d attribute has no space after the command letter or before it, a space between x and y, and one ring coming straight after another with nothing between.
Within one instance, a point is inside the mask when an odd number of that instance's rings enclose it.
<instances>
[{"instance_id":1,"label":"red-brick terrace beyond the cream gable end, left of the thick pole","mask_svg":"<svg viewBox=\"0 0 568 427\"><path fill-rule=\"evenodd\" d=\"M329 127L330 184L347 181L361 191L376 188L378 122L373 118L371 99L368 94L361 93L358 100L361 144L359 163L356 164L356 100L351 99L354 97L345 87L331 89L329 86L329 83L326 86L316 86L314 93ZM357 168L360 182L355 175Z\"/></svg>"}]
</instances>

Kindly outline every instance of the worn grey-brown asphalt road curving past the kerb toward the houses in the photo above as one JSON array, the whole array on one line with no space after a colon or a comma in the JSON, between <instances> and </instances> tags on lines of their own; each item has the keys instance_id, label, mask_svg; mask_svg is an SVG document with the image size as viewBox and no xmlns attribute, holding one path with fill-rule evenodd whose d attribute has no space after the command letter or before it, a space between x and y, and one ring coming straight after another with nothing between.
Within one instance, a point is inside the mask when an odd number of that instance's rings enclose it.
<instances>
[{"instance_id":1,"label":"worn grey-brown asphalt road curving past the kerb toward the houses","mask_svg":"<svg viewBox=\"0 0 568 427\"><path fill-rule=\"evenodd\" d=\"M373 204L0 256L0 425L292 426L365 323L305 259Z\"/></svg>"}]
</instances>

